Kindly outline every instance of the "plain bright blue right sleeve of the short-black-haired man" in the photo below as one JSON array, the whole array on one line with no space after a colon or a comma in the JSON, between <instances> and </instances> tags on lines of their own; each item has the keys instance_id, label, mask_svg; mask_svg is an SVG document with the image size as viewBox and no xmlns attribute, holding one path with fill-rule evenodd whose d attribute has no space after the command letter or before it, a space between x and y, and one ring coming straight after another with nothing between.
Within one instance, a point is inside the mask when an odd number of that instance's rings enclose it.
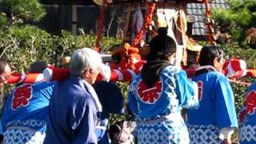
<instances>
[{"instance_id":1,"label":"plain bright blue right sleeve of the short-black-haired man","mask_svg":"<svg viewBox=\"0 0 256 144\"><path fill-rule=\"evenodd\" d=\"M219 129L238 127L237 114L234 106L234 94L226 77L218 78L213 90L215 93L215 118Z\"/></svg>"}]
</instances>

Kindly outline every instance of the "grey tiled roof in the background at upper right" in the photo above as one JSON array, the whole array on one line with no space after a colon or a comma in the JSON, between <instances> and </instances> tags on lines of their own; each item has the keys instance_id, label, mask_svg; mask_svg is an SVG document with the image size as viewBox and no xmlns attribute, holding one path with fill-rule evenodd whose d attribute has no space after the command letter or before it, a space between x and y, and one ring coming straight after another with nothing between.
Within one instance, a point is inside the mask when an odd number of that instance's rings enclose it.
<instances>
[{"instance_id":1,"label":"grey tiled roof in the background at upper right","mask_svg":"<svg viewBox=\"0 0 256 144\"><path fill-rule=\"evenodd\" d=\"M205 4L204 3L189 3L186 6L186 14L194 15L195 22L193 23L193 35L206 35L206 26L204 23L205 18ZM210 2L210 8L229 8L227 0L213 0Z\"/></svg>"}]
</instances>

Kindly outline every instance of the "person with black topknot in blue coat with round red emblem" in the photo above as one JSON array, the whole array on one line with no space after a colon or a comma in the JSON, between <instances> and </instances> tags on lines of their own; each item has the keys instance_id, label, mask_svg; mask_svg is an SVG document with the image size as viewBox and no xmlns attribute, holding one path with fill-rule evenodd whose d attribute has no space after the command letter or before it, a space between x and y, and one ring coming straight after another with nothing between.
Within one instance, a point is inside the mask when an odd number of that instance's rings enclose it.
<instances>
[{"instance_id":1,"label":"person with black topknot in blue coat with round red emblem","mask_svg":"<svg viewBox=\"0 0 256 144\"><path fill-rule=\"evenodd\" d=\"M174 66L176 46L166 34L166 28L158 29L142 73L130 85L128 104L138 120L138 143L190 143L181 110L198 105L198 86Z\"/></svg>"}]
</instances>

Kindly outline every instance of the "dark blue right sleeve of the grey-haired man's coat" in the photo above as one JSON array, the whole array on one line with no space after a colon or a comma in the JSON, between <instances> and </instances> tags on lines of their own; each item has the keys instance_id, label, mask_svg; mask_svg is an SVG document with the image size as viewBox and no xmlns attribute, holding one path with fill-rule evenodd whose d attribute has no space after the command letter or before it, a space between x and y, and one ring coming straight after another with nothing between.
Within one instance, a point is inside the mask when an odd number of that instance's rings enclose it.
<instances>
[{"instance_id":1,"label":"dark blue right sleeve of the grey-haired man's coat","mask_svg":"<svg viewBox=\"0 0 256 144\"><path fill-rule=\"evenodd\" d=\"M97 143L94 109L96 108L91 98L81 96L74 100L70 110L73 143Z\"/></svg>"}]
</instances>

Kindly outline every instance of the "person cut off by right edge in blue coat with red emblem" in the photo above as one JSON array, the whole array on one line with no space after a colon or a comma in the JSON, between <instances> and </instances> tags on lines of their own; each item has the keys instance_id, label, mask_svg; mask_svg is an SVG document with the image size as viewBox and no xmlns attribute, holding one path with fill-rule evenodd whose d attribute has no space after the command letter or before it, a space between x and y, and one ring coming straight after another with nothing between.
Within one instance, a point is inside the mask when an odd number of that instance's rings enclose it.
<instances>
[{"instance_id":1,"label":"person cut off by right edge in blue coat with red emblem","mask_svg":"<svg viewBox=\"0 0 256 144\"><path fill-rule=\"evenodd\" d=\"M256 143L256 82L245 94L246 105L239 114L239 142L241 144Z\"/></svg>"}]
</instances>

